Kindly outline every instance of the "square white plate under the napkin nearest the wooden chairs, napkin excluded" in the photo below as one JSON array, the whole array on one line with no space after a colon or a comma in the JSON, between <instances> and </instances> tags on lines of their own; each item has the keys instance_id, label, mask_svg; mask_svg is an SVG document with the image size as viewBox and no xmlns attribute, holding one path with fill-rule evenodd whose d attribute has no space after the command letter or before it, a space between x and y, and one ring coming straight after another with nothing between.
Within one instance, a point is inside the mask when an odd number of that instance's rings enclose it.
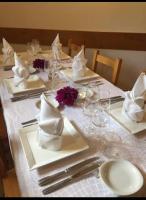
<instances>
[{"instance_id":1,"label":"square white plate under the napkin nearest the wooden chairs, napkin excluded","mask_svg":"<svg viewBox=\"0 0 146 200\"><path fill-rule=\"evenodd\" d=\"M79 77L79 78L73 78L72 68L67 68L67 69L61 70L61 72L63 73L63 75L72 79L75 83L80 82L80 81L88 81L88 80L92 80L92 79L97 79L100 77L98 74L96 74L89 68L86 68L85 76Z\"/></svg>"}]
</instances>

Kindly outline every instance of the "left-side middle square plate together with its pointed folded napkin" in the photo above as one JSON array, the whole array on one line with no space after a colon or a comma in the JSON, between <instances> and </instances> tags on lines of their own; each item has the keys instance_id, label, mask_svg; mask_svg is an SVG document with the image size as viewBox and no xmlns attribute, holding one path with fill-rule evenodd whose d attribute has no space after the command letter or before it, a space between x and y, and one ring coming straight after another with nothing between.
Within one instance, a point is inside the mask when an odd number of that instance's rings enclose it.
<instances>
[{"instance_id":1,"label":"left-side middle square plate together with its pointed folded napkin","mask_svg":"<svg viewBox=\"0 0 146 200\"><path fill-rule=\"evenodd\" d=\"M12 101L47 90L44 81L38 75L31 75L16 53L14 59L15 65L12 67L14 77L4 79Z\"/></svg>"}]
</instances>

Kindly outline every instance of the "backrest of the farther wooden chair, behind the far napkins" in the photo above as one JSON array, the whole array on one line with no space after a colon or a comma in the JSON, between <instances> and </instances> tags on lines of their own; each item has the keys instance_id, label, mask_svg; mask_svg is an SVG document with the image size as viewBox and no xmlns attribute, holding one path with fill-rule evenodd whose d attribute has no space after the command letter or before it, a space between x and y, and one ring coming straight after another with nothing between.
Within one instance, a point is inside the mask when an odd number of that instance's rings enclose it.
<instances>
[{"instance_id":1,"label":"backrest of the farther wooden chair, behind the far napkins","mask_svg":"<svg viewBox=\"0 0 146 200\"><path fill-rule=\"evenodd\" d=\"M68 40L68 55L74 57L84 45L76 44L72 39ZM84 46L85 50L85 46Z\"/></svg>"}]
</instances>

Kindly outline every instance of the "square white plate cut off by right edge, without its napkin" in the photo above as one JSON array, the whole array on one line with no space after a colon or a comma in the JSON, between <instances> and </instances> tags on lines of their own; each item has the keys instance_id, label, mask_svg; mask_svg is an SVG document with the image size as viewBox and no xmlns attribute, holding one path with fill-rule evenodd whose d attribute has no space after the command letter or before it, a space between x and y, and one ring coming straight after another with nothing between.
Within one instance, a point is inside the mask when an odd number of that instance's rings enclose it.
<instances>
[{"instance_id":1,"label":"square white plate cut off by right edge, without its napkin","mask_svg":"<svg viewBox=\"0 0 146 200\"><path fill-rule=\"evenodd\" d=\"M123 101L112 104L111 116L118 121L131 134L138 133L146 129L146 113L142 122L132 121L126 114L122 113Z\"/></svg>"}]
</instances>

